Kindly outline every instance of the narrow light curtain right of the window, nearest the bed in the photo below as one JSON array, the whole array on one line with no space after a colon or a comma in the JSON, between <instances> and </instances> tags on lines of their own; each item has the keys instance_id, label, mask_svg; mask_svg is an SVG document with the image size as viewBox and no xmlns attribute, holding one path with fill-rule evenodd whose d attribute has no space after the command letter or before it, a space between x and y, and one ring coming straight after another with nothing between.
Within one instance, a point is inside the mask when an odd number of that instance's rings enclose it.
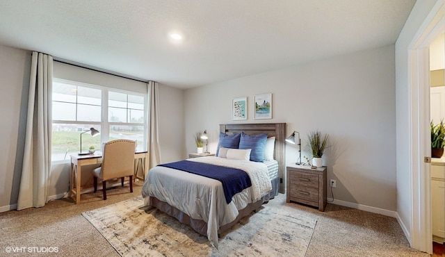
<instances>
[{"instance_id":1,"label":"narrow light curtain right of the window, nearest the bed","mask_svg":"<svg viewBox=\"0 0 445 257\"><path fill-rule=\"evenodd\" d=\"M159 85L157 82L147 83L148 92L148 169L161 163L161 147L159 146Z\"/></svg>"}]
</instances>

